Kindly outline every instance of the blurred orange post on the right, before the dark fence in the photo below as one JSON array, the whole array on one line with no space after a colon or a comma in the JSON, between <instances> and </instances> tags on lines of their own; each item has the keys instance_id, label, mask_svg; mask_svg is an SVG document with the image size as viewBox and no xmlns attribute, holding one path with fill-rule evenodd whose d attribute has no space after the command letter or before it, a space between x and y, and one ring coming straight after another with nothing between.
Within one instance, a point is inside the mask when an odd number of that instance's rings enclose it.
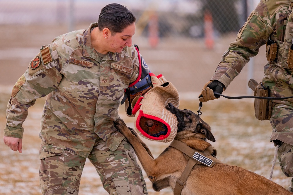
<instances>
[{"instance_id":1,"label":"blurred orange post on the right, before the dark fence","mask_svg":"<svg viewBox=\"0 0 293 195\"><path fill-rule=\"evenodd\" d=\"M208 11L205 12L204 28L205 28L205 45L207 49L213 49L214 48L213 18L212 18L212 15Z\"/></svg>"}]
</instances>

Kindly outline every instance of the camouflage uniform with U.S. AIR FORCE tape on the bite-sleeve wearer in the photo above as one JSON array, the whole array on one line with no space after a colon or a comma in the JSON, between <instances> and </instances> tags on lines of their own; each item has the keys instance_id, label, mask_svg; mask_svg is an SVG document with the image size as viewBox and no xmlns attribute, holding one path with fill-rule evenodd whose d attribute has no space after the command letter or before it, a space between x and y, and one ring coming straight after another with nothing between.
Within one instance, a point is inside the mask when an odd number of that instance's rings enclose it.
<instances>
[{"instance_id":1,"label":"camouflage uniform with U.S. AIR FORCE tape on the bite-sleeve wearer","mask_svg":"<svg viewBox=\"0 0 293 195\"><path fill-rule=\"evenodd\" d=\"M28 108L47 95L39 135L43 194L58 189L59 174L65 189L58 193L77 194L86 158L109 194L147 194L133 149L113 125L125 88L138 77L138 54L132 46L99 57L91 45L91 29L97 25L43 46L14 85L8 102L4 136L22 138ZM67 169L60 173L59 165Z\"/></svg>"}]
</instances>

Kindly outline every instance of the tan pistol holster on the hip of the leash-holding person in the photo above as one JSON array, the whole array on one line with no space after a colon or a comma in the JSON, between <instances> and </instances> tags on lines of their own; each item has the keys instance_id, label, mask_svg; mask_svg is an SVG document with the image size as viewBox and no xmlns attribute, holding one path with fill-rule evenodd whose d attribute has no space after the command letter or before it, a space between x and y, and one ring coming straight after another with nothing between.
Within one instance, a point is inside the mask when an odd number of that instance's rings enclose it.
<instances>
[{"instance_id":1,"label":"tan pistol holster on the hip of the leash-holding person","mask_svg":"<svg viewBox=\"0 0 293 195\"><path fill-rule=\"evenodd\" d=\"M253 78L249 79L248 86L254 91L255 97L269 97L270 88L265 87L262 82L258 83ZM272 101L265 99L254 99L254 114L258 120L269 120L271 118Z\"/></svg>"}]
</instances>

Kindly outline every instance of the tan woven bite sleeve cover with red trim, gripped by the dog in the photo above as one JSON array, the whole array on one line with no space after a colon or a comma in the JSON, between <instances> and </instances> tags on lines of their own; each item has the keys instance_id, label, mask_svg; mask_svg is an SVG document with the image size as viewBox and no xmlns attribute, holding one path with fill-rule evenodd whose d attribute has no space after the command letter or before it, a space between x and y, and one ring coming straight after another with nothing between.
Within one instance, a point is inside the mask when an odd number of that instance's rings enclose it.
<instances>
[{"instance_id":1,"label":"tan woven bite sleeve cover with red trim, gripped by the dog","mask_svg":"<svg viewBox=\"0 0 293 195\"><path fill-rule=\"evenodd\" d=\"M169 142L177 134L177 118L166 107L172 103L179 107L179 94L176 88L162 76L150 73L152 88L132 101L132 114L135 114L134 127L137 133L152 141Z\"/></svg>"}]
</instances>

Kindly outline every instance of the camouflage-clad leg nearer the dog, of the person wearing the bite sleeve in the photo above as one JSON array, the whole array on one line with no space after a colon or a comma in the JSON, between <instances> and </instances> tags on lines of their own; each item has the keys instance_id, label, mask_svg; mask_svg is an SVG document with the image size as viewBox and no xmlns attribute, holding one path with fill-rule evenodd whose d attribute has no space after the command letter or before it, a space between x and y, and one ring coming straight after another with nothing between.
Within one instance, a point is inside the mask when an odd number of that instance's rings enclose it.
<instances>
[{"instance_id":1,"label":"camouflage-clad leg nearer the dog, of the person wearing the bite sleeve","mask_svg":"<svg viewBox=\"0 0 293 195\"><path fill-rule=\"evenodd\" d=\"M88 156L100 175L104 189L110 195L147 195L142 170L133 148L122 140L115 151L111 151L102 139Z\"/></svg>"}]
</instances>

